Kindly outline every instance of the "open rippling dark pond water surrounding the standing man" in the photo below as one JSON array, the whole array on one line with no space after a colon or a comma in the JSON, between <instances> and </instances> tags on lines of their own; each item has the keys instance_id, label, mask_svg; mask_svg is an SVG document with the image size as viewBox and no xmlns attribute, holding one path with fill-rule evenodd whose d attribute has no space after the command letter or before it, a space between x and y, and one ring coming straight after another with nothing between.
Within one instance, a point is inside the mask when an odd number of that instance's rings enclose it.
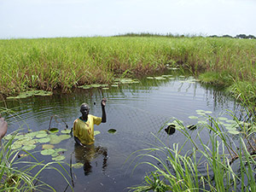
<instances>
[{"instance_id":1,"label":"open rippling dark pond water surrounding the standing man","mask_svg":"<svg viewBox=\"0 0 256 192\"><path fill-rule=\"evenodd\" d=\"M128 191L127 187L142 183L145 172L152 170L150 166L141 165L133 171L134 166L142 160L132 161L135 155L127 160L131 153L150 145L160 146L154 135L170 147L173 143L182 145L185 142L185 137L179 131L171 136L164 130L160 131L166 121L175 117L183 120L184 125L191 125L196 121L189 119L189 116L196 115L195 110L198 109L211 111L212 116L225 113L226 109L237 111L236 102L229 96L198 82L189 82L189 78L184 77L143 79L141 84L127 84L109 90L76 90L69 94L9 101L6 105L12 112L6 113L5 118L9 122L9 132L20 127L25 131L28 128L33 131L48 129L49 119L54 114L61 116L71 128L73 120L80 116L81 103L87 102L90 113L102 116L100 102L102 97L107 97L107 123L95 126L96 131L101 131L96 135L95 145L80 148L71 137L58 144L58 147L67 148L64 154L67 164L79 162L84 165L73 168L74 191ZM60 130L65 128L61 121L53 121L52 126ZM117 132L110 134L109 129ZM206 141L207 134L207 131L201 131L201 137ZM191 131L193 135L195 137L196 131ZM40 150L40 146L36 149ZM184 149L191 149L191 145L185 145ZM35 155L40 160L50 160L47 156ZM154 160L148 159L148 162ZM67 172L70 171L67 165L64 167ZM41 179L57 191L64 191L67 187L61 175L52 170L44 172Z\"/></svg>"}]
</instances>

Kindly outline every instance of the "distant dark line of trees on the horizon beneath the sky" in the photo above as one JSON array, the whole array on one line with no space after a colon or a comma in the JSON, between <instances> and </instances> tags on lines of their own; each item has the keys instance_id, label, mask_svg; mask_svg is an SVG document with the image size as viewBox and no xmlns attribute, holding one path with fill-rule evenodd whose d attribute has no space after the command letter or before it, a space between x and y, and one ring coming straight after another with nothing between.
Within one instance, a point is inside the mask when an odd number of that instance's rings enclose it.
<instances>
[{"instance_id":1,"label":"distant dark line of trees on the horizon beneath the sky","mask_svg":"<svg viewBox=\"0 0 256 192\"><path fill-rule=\"evenodd\" d=\"M175 35L172 33L160 34L160 33L150 33L150 32L140 32L140 33L128 32L128 33L120 34L120 35L116 35L116 36L117 37L167 37L167 38L202 37L201 35L190 35L190 34ZM253 35L239 34L239 35L236 35L235 37L232 37L230 35L223 35L223 36L211 35L211 36L207 36L207 38L249 38L249 39L252 39L252 38L256 38L256 37Z\"/></svg>"}]
</instances>

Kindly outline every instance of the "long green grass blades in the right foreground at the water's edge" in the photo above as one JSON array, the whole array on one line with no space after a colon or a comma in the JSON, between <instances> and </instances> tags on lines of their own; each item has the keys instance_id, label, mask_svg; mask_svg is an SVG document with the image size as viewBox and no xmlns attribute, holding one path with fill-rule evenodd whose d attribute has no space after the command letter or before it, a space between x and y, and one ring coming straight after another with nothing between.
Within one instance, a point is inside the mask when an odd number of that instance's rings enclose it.
<instances>
[{"instance_id":1,"label":"long green grass blades in the right foreground at the water's edge","mask_svg":"<svg viewBox=\"0 0 256 192\"><path fill-rule=\"evenodd\" d=\"M197 144L190 137L193 131L179 120L172 122L188 138L185 143L190 142L193 148L184 151L184 143L167 146L154 136L159 147L144 148L129 157L137 160L134 169L146 164L154 170L146 173L143 184L130 187L131 191L254 191L255 125L238 120L231 112L230 117L207 115L208 123L196 129ZM224 121L229 125L220 123ZM208 143L201 138L202 129L209 132Z\"/></svg>"}]
</instances>

